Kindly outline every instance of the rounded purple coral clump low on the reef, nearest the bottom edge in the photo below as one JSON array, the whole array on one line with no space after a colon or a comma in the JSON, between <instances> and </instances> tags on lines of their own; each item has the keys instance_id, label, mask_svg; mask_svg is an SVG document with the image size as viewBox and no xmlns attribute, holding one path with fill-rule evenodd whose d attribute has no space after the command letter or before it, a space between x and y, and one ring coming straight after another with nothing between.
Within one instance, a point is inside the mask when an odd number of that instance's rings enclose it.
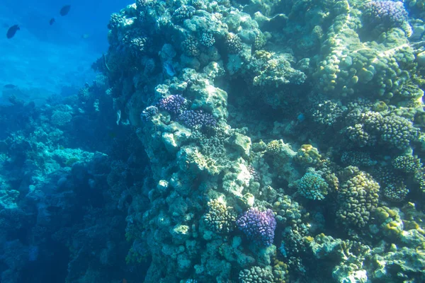
<instances>
[{"instance_id":1,"label":"rounded purple coral clump low on the reef, nearest the bottom edge","mask_svg":"<svg viewBox=\"0 0 425 283\"><path fill-rule=\"evenodd\" d=\"M261 212L259 209L251 207L239 216L236 224L254 243L260 246L270 246L273 243L276 219L271 209Z\"/></svg>"}]
</instances>

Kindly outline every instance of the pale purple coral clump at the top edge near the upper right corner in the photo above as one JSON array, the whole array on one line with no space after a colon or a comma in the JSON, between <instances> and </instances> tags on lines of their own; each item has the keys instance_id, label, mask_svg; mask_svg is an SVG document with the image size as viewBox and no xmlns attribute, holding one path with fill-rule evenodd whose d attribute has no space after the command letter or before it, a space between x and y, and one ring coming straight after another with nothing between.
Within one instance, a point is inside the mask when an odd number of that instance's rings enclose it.
<instances>
[{"instance_id":1,"label":"pale purple coral clump at the top edge near the upper right corner","mask_svg":"<svg viewBox=\"0 0 425 283\"><path fill-rule=\"evenodd\" d=\"M399 1L370 1L364 8L365 25L383 24L389 28L397 28L407 21L407 11Z\"/></svg>"}]
</instances>

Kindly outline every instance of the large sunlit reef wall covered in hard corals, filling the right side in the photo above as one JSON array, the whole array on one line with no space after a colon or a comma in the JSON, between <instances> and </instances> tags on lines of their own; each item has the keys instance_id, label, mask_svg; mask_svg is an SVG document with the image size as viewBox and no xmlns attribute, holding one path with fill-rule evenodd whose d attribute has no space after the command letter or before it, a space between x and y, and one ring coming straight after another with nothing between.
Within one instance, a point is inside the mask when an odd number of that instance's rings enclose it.
<instances>
[{"instance_id":1,"label":"large sunlit reef wall covered in hard corals, filling the right side","mask_svg":"<svg viewBox=\"0 0 425 283\"><path fill-rule=\"evenodd\" d=\"M407 216L425 192L423 6L232 5L137 0L111 17L104 74L165 184L128 223L154 237L146 282L424 281ZM132 48L140 30L151 51ZM147 62L173 71L122 71Z\"/></svg>"}]
</instances>

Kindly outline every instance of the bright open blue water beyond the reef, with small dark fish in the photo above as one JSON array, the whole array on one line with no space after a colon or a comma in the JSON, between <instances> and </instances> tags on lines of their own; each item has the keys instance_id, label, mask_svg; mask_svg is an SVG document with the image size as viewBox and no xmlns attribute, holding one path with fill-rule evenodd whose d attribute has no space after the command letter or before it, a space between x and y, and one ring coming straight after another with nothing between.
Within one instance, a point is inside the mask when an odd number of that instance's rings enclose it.
<instances>
[{"instance_id":1,"label":"bright open blue water beyond the reef, with small dark fish","mask_svg":"<svg viewBox=\"0 0 425 283\"><path fill-rule=\"evenodd\" d=\"M61 93L94 79L91 63L108 49L111 13L131 1L13 1L0 5L0 86L12 83L30 96ZM71 4L67 16L59 11ZM50 18L56 22L49 25ZM15 37L6 38L18 24Z\"/></svg>"}]
</instances>

